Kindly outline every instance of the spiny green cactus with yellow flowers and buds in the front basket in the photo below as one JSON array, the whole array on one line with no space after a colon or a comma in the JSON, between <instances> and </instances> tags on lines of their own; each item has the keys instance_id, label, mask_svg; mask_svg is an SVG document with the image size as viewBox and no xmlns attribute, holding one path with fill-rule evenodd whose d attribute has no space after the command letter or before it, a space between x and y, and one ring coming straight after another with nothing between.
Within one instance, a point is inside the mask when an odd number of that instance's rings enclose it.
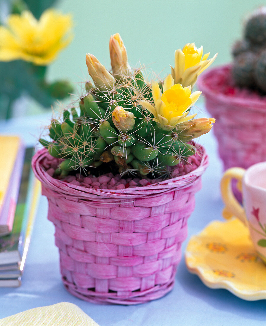
<instances>
[{"instance_id":1,"label":"spiny green cactus with yellow flowers and buds in the front basket","mask_svg":"<svg viewBox=\"0 0 266 326\"><path fill-rule=\"evenodd\" d=\"M112 72L87 54L92 82L85 84L85 94L76 106L65 109L60 121L51 121L50 141L40 139L40 143L60 159L55 173L61 176L70 171L95 173L93 169L100 165L104 171L112 166L122 175L163 174L167 166L193 155L191 141L208 132L215 122L189 115L201 92L192 93L191 84L182 86L182 78L181 83L175 83L176 69L182 65L189 69L189 55L194 49L199 60L190 66L190 77L184 80L195 83L199 70L214 59L206 60L208 55L204 55L201 60L202 48L192 43L188 55L182 52L181 62L176 58L173 75L151 83L142 69L130 67L118 33L111 36L109 47Z\"/></svg>"}]
</instances>

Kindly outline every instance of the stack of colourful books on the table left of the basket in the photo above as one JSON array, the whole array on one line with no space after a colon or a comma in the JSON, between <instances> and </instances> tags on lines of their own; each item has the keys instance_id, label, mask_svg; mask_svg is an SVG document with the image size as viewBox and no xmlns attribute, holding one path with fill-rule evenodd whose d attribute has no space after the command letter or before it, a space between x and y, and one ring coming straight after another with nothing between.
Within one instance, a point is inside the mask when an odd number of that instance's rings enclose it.
<instances>
[{"instance_id":1,"label":"stack of colourful books on the table left of the basket","mask_svg":"<svg viewBox=\"0 0 266 326\"><path fill-rule=\"evenodd\" d=\"M0 287L21 285L40 183L31 170L33 148L0 136Z\"/></svg>"}]
</instances>

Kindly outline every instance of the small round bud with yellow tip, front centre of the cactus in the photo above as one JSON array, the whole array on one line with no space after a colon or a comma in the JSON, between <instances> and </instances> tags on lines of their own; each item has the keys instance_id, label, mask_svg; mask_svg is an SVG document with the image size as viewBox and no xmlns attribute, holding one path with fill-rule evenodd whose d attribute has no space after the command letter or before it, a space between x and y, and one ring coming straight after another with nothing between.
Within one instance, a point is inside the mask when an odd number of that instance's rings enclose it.
<instances>
[{"instance_id":1,"label":"small round bud with yellow tip, front centre of the cactus","mask_svg":"<svg viewBox=\"0 0 266 326\"><path fill-rule=\"evenodd\" d=\"M112 121L115 127L124 133L133 129L135 125L134 118L134 114L132 112L125 111L122 106L117 106L112 111Z\"/></svg>"}]
</instances>

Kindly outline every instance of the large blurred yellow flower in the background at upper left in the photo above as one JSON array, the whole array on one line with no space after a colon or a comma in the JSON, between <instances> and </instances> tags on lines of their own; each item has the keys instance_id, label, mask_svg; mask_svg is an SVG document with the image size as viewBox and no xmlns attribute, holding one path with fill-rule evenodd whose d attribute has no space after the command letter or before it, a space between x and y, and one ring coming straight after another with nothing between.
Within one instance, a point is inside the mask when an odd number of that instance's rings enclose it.
<instances>
[{"instance_id":1,"label":"large blurred yellow flower in the background at upper left","mask_svg":"<svg viewBox=\"0 0 266 326\"><path fill-rule=\"evenodd\" d=\"M10 15L7 27L0 26L0 61L24 60L35 65L50 64L71 41L70 15L53 9L37 20L30 11Z\"/></svg>"}]
</instances>

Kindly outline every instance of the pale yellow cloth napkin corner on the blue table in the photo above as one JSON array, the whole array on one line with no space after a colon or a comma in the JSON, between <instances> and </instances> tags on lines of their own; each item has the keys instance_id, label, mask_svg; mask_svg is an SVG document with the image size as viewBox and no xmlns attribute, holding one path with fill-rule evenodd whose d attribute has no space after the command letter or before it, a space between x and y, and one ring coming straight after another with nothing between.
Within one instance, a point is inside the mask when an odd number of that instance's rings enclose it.
<instances>
[{"instance_id":1,"label":"pale yellow cloth napkin corner on the blue table","mask_svg":"<svg viewBox=\"0 0 266 326\"><path fill-rule=\"evenodd\" d=\"M99 326L78 306L61 302L0 319L1 326Z\"/></svg>"}]
</instances>

